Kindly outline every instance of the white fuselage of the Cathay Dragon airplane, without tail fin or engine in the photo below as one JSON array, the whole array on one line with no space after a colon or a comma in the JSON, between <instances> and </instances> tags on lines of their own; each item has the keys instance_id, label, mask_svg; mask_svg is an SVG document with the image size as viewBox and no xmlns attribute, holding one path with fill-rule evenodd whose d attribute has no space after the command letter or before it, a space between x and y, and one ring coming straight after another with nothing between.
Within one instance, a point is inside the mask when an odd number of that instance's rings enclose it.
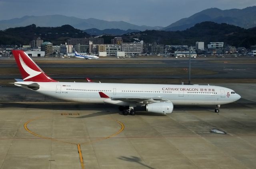
<instances>
[{"instance_id":1,"label":"white fuselage of the Cathay Dragon airplane, without tail fin or engine","mask_svg":"<svg viewBox=\"0 0 256 169\"><path fill-rule=\"evenodd\" d=\"M31 84L35 82L19 82ZM210 85L154 85L122 83L71 83L71 82L36 82L40 87L36 92L83 103L108 103L108 98L101 98L99 92L113 97L161 97L174 105L218 105L228 104L240 98L229 88ZM21 86L21 85L16 85ZM28 88L26 86L21 86ZM28 88L30 89L30 88ZM30 89L32 90L32 89ZM125 102L110 102L125 106ZM139 103L144 105L145 103ZM127 105L129 106L129 105Z\"/></svg>"}]
</instances>

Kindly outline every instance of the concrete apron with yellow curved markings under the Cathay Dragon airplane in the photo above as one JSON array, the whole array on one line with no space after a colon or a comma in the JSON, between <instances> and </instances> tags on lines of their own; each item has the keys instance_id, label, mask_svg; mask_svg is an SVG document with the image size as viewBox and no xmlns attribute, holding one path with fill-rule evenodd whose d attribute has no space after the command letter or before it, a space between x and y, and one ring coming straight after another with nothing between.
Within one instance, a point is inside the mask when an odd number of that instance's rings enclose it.
<instances>
[{"instance_id":1,"label":"concrete apron with yellow curved markings under the Cathay Dragon airplane","mask_svg":"<svg viewBox=\"0 0 256 169\"><path fill-rule=\"evenodd\" d=\"M212 85L242 98L218 114L211 106L174 106L168 115L138 108L122 116L116 106L2 86L0 169L256 168L256 84Z\"/></svg>"}]
</instances>

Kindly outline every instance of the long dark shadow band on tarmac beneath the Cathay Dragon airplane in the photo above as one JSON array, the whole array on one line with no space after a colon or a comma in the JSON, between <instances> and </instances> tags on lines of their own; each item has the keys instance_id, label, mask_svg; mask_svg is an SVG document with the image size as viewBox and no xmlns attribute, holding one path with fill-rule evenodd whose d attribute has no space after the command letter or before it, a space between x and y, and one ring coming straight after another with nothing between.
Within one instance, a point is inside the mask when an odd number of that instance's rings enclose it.
<instances>
[{"instance_id":1,"label":"long dark shadow band on tarmac beneath the Cathay Dragon airplane","mask_svg":"<svg viewBox=\"0 0 256 169\"><path fill-rule=\"evenodd\" d=\"M256 102L241 98L240 100L231 103L221 105L221 108L254 108ZM96 111L92 114L87 114L84 116L74 117L74 118L89 118L95 116L103 116L107 114L120 114L122 112L118 110L118 106L110 104L77 104L70 102L59 102L59 103L40 103L40 102L0 102L0 108L30 108L30 109L46 109L46 110L63 110L63 111ZM214 112L215 106L174 106L174 111L202 111L208 110ZM220 109L221 110L221 109ZM70 112L68 112L70 113ZM136 115L139 116L166 116L165 114L158 114L152 112L145 112L144 107L136 107ZM73 118L73 117L69 117Z\"/></svg>"}]
</instances>

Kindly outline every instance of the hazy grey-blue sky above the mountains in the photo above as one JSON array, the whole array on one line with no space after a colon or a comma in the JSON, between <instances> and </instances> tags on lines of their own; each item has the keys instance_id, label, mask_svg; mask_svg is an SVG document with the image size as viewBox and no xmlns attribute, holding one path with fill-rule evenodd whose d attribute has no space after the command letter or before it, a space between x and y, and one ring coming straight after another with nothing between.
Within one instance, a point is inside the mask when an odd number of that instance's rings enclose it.
<instances>
[{"instance_id":1,"label":"hazy grey-blue sky above the mountains","mask_svg":"<svg viewBox=\"0 0 256 169\"><path fill-rule=\"evenodd\" d=\"M207 8L256 6L256 0L0 0L0 20L61 14L82 19L168 26Z\"/></svg>"}]
</instances>

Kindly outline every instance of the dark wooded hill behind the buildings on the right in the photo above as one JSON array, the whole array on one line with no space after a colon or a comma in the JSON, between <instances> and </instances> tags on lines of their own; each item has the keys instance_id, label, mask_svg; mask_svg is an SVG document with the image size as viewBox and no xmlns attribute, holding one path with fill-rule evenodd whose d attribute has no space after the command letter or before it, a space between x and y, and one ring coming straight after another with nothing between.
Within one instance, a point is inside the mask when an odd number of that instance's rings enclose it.
<instances>
[{"instance_id":1,"label":"dark wooded hill behind the buildings on the right","mask_svg":"<svg viewBox=\"0 0 256 169\"><path fill-rule=\"evenodd\" d=\"M250 29L240 28L228 24L202 22L184 31L155 31L147 30L140 33L122 35L124 41L134 41L139 38L146 43L159 43L164 45L192 45L197 41L224 42L224 45L246 47L256 44L256 27Z\"/></svg>"}]
</instances>

